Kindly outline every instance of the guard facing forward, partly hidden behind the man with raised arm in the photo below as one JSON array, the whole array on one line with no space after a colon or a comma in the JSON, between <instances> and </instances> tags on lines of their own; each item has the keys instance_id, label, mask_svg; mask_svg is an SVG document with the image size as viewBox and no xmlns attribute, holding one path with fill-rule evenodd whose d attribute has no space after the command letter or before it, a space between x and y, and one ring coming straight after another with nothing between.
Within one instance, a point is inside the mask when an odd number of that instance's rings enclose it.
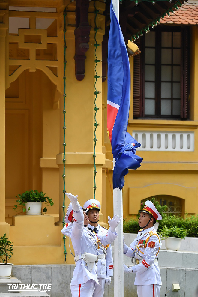
<instances>
[{"instance_id":1,"label":"guard facing forward, partly hidden behind the man with raised arm","mask_svg":"<svg viewBox=\"0 0 198 297\"><path fill-rule=\"evenodd\" d=\"M99 211L101 210L101 204L96 199L89 199L83 205L83 208L87 208L86 214L89 217L89 225L88 228L92 229L97 233L97 236L103 236L108 232L108 229L100 226L98 224L99 221ZM111 244L107 246L107 248L103 247L100 244L100 249L98 250L98 254L105 256L105 258L98 259L98 279L100 285L95 285L95 290L93 293L93 297L103 297L105 283L110 285L111 277L113 276L113 254Z\"/></svg>"}]
</instances>

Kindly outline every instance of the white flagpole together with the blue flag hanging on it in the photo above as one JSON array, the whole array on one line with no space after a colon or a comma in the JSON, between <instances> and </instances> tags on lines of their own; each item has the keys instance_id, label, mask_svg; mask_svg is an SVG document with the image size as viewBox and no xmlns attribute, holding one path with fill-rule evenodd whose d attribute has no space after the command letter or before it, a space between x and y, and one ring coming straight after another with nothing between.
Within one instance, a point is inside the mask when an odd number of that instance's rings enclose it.
<instances>
[{"instance_id":1,"label":"white flagpole together with the blue flag hanging on it","mask_svg":"<svg viewBox=\"0 0 198 297\"><path fill-rule=\"evenodd\" d=\"M107 129L113 152L113 211L121 218L114 241L114 297L124 297L122 189L128 169L140 167L135 155L140 147L127 133L130 108L130 64L125 40L119 26L119 0L111 0L108 44ZM135 146L135 147L134 147Z\"/></svg>"}]
</instances>

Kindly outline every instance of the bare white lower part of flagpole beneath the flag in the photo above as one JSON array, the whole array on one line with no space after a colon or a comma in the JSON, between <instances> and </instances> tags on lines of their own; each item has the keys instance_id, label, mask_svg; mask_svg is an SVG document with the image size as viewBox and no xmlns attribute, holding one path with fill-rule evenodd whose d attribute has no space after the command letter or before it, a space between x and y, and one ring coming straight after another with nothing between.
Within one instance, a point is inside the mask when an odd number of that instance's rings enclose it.
<instances>
[{"instance_id":1,"label":"bare white lower part of flagpole beneath the flag","mask_svg":"<svg viewBox=\"0 0 198 297\"><path fill-rule=\"evenodd\" d=\"M116 160L113 158L113 167ZM123 256L123 207L122 190L113 190L113 211L121 218L117 226L118 237L114 241L114 297L124 297L124 256Z\"/></svg>"}]
</instances>

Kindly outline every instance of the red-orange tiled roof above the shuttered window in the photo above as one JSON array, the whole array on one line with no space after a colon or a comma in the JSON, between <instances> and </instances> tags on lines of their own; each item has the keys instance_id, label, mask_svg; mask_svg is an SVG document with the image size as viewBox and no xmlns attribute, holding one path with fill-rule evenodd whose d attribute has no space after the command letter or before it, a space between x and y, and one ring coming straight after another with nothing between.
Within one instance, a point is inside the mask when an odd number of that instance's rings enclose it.
<instances>
[{"instance_id":1,"label":"red-orange tiled roof above the shuttered window","mask_svg":"<svg viewBox=\"0 0 198 297\"><path fill-rule=\"evenodd\" d=\"M170 17L166 15L164 20L160 21L162 24L198 24L198 1L188 0L188 2L185 2L178 11L175 11L175 13L170 13Z\"/></svg>"}]
</instances>

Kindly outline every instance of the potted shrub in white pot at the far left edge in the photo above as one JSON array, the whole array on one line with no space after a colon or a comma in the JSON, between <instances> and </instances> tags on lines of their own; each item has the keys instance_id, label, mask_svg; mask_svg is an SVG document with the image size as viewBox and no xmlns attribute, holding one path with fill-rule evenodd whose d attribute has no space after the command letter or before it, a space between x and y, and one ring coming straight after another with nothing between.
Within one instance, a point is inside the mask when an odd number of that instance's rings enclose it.
<instances>
[{"instance_id":1,"label":"potted shrub in white pot at the far left edge","mask_svg":"<svg viewBox=\"0 0 198 297\"><path fill-rule=\"evenodd\" d=\"M13 242L8 241L8 237L4 234L0 238L0 278L10 278L12 266L14 264L8 263L8 260L13 255Z\"/></svg>"}]
</instances>

